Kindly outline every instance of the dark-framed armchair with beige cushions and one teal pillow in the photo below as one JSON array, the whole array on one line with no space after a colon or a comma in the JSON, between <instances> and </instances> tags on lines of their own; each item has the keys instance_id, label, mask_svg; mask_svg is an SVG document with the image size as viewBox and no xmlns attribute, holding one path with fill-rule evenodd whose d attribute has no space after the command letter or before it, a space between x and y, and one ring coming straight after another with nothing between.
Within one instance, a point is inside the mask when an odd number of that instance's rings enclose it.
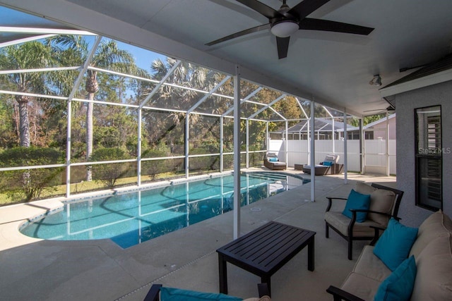
<instances>
[{"instance_id":1,"label":"dark-framed armchair with beige cushions and one teal pillow","mask_svg":"<svg viewBox=\"0 0 452 301\"><path fill-rule=\"evenodd\" d=\"M373 245L381 234L380 230L388 226L391 217L400 219L398 208L402 197L401 190L359 182L348 198L326 197L325 237L329 237L331 228L345 238L348 242L348 259L352 260L353 240L371 240ZM331 210L333 199L342 200L345 208L341 206L341 210Z\"/></svg>"}]
</instances>

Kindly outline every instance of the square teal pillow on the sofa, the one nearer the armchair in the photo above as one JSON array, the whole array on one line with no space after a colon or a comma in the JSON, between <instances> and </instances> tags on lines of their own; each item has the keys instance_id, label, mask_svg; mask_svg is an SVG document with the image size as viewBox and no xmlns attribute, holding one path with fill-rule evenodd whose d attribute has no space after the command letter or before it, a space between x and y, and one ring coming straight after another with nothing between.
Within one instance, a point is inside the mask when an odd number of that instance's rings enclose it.
<instances>
[{"instance_id":1,"label":"square teal pillow on the sofa, the one nearer the armchair","mask_svg":"<svg viewBox=\"0 0 452 301\"><path fill-rule=\"evenodd\" d=\"M374 254L394 271L408 257L417 238L417 228L402 225L391 218L388 228L381 234L374 247Z\"/></svg>"}]
</instances>

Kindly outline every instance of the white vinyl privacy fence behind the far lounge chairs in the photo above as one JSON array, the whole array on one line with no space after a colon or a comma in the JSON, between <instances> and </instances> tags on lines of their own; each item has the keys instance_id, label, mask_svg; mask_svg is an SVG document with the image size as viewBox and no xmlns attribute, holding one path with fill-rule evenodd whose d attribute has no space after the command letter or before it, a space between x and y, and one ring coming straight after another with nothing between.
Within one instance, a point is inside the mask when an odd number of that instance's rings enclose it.
<instances>
[{"instance_id":1,"label":"white vinyl privacy fence behind the far lounge chairs","mask_svg":"<svg viewBox=\"0 0 452 301\"><path fill-rule=\"evenodd\" d=\"M315 140L315 149L315 164L323 161L327 154L339 154L339 163L344 163L343 140ZM287 166L290 167L295 164L310 164L308 140L270 139L268 152L278 154L278 158L287 161ZM396 175L396 140L389 140L388 153L386 140L364 140L364 173L386 174L387 161L389 173ZM347 140L347 165L348 171L360 171L359 140Z\"/></svg>"}]
</instances>

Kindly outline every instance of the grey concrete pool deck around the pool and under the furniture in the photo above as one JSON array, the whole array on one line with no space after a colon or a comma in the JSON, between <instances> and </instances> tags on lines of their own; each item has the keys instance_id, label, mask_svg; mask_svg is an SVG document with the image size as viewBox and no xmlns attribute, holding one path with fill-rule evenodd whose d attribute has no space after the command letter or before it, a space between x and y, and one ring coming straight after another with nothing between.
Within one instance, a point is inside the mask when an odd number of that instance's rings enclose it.
<instances>
[{"instance_id":1,"label":"grey concrete pool deck around the pool and under the furniture","mask_svg":"<svg viewBox=\"0 0 452 301\"><path fill-rule=\"evenodd\" d=\"M272 276L272 300L332 299L326 288L342 283L368 242L356 242L349 261L343 238L325 238L325 197L346 197L357 180L396 187L395 177L349 173L345 184L343 175L317 176L316 202L308 201L311 185L302 185L242 207L242 233L271 220L317 233L315 270L307 270L307 250L299 252ZM232 212L124 250L111 240L39 240L18 232L31 216L60 205L44 200L0 208L0 300L143 300L150 283L218 292L215 250L232 240ZM228 264L228 279L230 295L257 295L258 276Z\"/></svg>"}]
</instances>

